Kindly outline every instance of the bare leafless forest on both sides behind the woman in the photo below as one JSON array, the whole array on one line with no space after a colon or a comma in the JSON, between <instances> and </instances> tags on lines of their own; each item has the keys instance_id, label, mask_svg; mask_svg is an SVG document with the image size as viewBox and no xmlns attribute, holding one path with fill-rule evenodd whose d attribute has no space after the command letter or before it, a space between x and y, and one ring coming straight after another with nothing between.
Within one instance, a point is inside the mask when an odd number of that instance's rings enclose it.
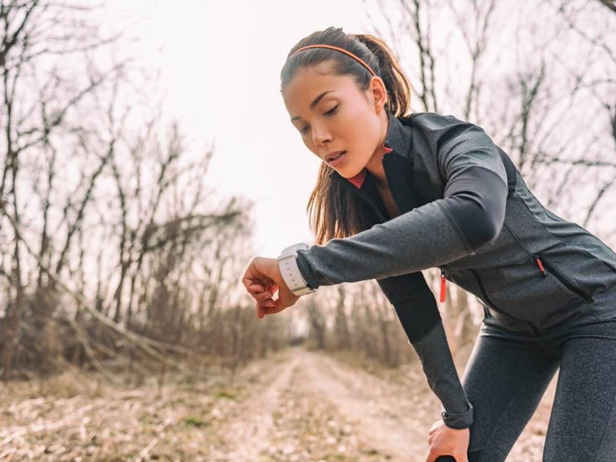
<instances>
[{"instance_id":1,"label":"bare leafless forest on both sides behind the woman","mask_svg":"<svg viewBox=\"0 0 616 462\"><path fill-rule=\"evenodd\" d=\"M368 22L385 19L368 32L398 55L415 111L479 124L541 203L616 248L614 2L364 4ZM161 116L156 76L97 21L102 7L0 3L0 377L234 369L301 342L413 362L374 281L257 319L240 281L252 203L214 199L215 149L194 161L188 134ZM436 269L424 272L437 293ZM482 309L447 286L439 305L464 361Z\"/></svg>"}]
</instances>

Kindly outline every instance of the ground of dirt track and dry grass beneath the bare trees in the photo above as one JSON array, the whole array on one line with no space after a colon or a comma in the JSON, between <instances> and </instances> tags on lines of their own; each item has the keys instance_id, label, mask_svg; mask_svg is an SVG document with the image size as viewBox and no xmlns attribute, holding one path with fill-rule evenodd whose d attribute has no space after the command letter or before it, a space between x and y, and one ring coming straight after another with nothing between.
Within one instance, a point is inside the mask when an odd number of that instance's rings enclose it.
<instances>
[{"instance_id":1,"label":"ground of dirt track and dry grass beneath the bare trees","mask_svg":"<svg viewBox=\"0 0 616 462\"><path fill-rule=\"evenodd\" d=\"M0 462L423 462L440 418L419 365L369 373L301 347L162 388L80 374L0 384ZM508 462L541 460L555 381Z\"/></svg>"}]
</instances>

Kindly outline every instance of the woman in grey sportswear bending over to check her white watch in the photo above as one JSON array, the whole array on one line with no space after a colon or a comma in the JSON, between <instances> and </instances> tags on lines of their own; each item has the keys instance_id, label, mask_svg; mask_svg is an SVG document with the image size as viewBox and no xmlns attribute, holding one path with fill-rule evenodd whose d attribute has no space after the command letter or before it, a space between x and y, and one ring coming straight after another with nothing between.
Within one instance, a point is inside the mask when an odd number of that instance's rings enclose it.
<instances>
[{"instance_id":1,"label":"woman in grey sportswear bending over to check her white watch","mask_svg":"<svg viewBox=\"0 0 616 462\"><path fill-rule=\"evenodd\" d=\"M616 460L614 251L545 209L479 126L409 114L410 85L380 39L317 31L281 78L291 123L323 160L309 201L317 245L253 259L243 283L257 316L374 278L442 403L426 462L504 461L559 367L543 460ZM430 267L440 301L450 280L484 307L461 382Z\"/></svg>"}]
</instances>

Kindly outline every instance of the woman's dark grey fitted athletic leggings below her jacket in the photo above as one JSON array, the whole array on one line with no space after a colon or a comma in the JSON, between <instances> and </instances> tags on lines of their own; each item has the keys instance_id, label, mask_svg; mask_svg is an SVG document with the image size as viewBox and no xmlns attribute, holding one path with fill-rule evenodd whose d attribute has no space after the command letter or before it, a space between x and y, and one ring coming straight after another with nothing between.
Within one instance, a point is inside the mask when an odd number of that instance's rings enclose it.
<instances>
[{"instance_id":1,"label":"woman's dark grey fitted athletic leggings below her jacket","mask_svg":"<svg viewBox=\"0 0 616 462\"><path fill-rule=\"evenodd\" d=\"M505 461L559 367L543 461L616 461L616 319L536 336L487 314L462 377L469 462Z\"/></svg>"}]
</instances>

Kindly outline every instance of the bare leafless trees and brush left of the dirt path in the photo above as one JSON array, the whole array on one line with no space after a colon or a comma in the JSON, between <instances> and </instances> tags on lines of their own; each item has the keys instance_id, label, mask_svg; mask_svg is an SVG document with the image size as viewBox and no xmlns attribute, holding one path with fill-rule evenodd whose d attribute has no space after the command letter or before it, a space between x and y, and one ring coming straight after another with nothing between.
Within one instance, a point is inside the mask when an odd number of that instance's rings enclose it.
<instances>
[{"instance_id":1,"label":"bare leafless trees and brush left of the dirt path","mask_svg":"<svg viewBox=\"0 0 616 462\"><path fill-rule=\"evenodd\" d=\"M238 295L252 204L208 190L214 149L190 160L155 79L137 85L130 57L99 59L124 38L102 37L97 11L0 2L2 375L67 359L106 373L120 354L164 375L171 354L237 365L282 347Z\"/></svg>"}]
</instances>

